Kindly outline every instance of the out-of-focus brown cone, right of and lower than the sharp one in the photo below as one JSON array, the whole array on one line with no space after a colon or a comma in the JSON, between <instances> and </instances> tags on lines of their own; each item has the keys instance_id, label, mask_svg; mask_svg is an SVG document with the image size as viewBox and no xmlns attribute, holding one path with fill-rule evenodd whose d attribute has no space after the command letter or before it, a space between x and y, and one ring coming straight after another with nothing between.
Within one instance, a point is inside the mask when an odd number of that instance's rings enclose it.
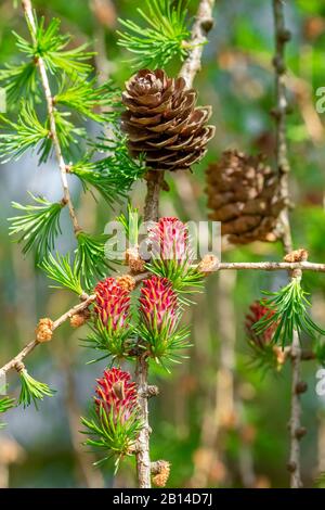
<instances>
[{"instance_id":1,"label":"out-of-focus brown cone, right of and lower than the sharp one","mask_svg":"<svg viewBox=\"0 0 325 510\"><path fill-rule=\"evenodd\" d=\"M278 181L264 157L225 151L207 170L210 219L221 221L221 233L234 244L275 241L284 200Z\"/></svg>"}]
</instances>

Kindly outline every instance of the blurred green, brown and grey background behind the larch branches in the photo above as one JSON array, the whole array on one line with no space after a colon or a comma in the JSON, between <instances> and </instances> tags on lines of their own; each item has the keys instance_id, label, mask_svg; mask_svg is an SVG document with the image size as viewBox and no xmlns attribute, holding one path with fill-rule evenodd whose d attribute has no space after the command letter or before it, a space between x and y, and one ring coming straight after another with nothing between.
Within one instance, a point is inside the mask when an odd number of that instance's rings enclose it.
<instances>
[{"instance_id":1,"label":"blurred green, brown and grey background behind the larch branches","mask_svg":"<svg viewBox=\"0 0 325 510\"><path fill-rule=\"evenodd\" d=\"M98 52L94 65L101 79L113 78L119 86L130 75L128 55L117 47L118 17L138 20L138 0L36 0L47 20L57 16L62 29L78 43L90 40ZM194 14L197 1L190 1ZM296 247L306 246L310 259L324 262L324 161L325 113L315 109L316 90L325 86L325 3L318 0L286 2L287 24L292 31L287 60L288 93L292 114L288 118L290 150L291 213ZM168 178L170 192L162 193L161 214L182 220L207 218L205 168L229 148L264 152L272 162L274 101L272 72L273 21L271 0L218 0L216 25L205 49L203 69L195 86L202 104L212 104L217 133L205 161L193 175ZM12 30L26 35L25 21L12 0L0 0L0 64L18 55ZM179 63L168 71L177 73ZM95 126L89 124L89 131ZM79 203L80 222L88 231L100 231L115 216L101 201L83 194L72 179ZM10 359L31 340L40 317L58 317L73 297L49 289L32 257L9 238L6 218L13 216L11 201L27 202L27 190L61 196L55 162L37 166L31 154L0 168L0 359ZM144 187L132 193L134 206L142 207ZM117 209L119 212L119 209ZM70 251L68 218L63 221L58 248ZM272 260L282 256L280 244L256 243L223 253L223 260ZM214 275L206 282L186 320L192 324L190 359L172 374L152 372L160 387L151 400L152 458L172 463L169 487L284 487L288 486L286 462L290 370L263 373L250 364L244 329L249 304L261 290L285 283L285 273L243 271ZM312 293L313 315L325 324L325 280L306 275ZM134 466L127 461L117 477L113 466L94 469L92 454L81 446L79 416L88 410L95 379L103 364L86 365L91 353L80 346L86 330L63 326L49 346L36 349L26 365L36 379L55 387L55 397L44 399L39 411L13 409L5 416L8 426L0 433L0 486L10 487L101 487L134 486ZM303 365L309 391L302 397L302 422L308 434L301 442L302 476L314 486L325 472L325 396L315 392L314 362ZM16 374L10 374L10 391L18 392Z\"/></svg>"}]
</instances>

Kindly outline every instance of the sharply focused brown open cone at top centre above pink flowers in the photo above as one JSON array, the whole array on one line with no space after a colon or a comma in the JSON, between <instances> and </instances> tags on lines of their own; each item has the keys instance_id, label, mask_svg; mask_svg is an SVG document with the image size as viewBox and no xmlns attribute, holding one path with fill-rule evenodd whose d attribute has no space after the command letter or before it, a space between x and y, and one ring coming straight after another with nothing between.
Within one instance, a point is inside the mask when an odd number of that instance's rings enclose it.
<instances>
[{"instance_id":1,"label":"sharply focused brown open cone at top centre above pink flowers","mask_svg":"<svg viewBox=\"0 0 325 510\"><path fill-rule=\"evenodd\" d=\"M126 84L121 116L133 156L145 153L148 168L185 170L207 151L214 127L207 126L211 107L195 107L197 93L183 78L161 69L142 69Z\"/></svg>"}]
</instances>

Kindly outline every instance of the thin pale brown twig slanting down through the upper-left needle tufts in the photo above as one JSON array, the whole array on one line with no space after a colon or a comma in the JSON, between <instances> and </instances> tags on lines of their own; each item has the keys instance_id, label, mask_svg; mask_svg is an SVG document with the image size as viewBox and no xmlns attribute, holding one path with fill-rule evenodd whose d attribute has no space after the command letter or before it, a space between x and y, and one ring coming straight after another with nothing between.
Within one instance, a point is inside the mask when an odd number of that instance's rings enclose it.
<instances>
[{"instance_id":1,"label":"thin pale brown twig slanting down through the upper-left needle tufts","mask_svg":"<svg viewBox=\"0 0 325 510\"><path fill-rule=\"evenodd\" d=\"M34 42L36 42L37 27L36 27L36 22L35 22L35 17L34 17L31 1L30 0L22 0L22 5L23 5L23 9L24 9L26 18L28 20L29 26L31 28L31 30L30 30L31 38L32 38ZM77 233L81 229L79 227L76 211L75 211L75 207L74 207L74 204L73 204L73 201L72 201L72 196L70 196L70 191L69 191L68 181L67 181L67 171L66 171L67 165L64 161L61 144L60 144L60 140L58 140L58 136L57 136L53 97L52 97L52 93L51 93L50 81L49 81L49 77L48 77L48 74L47 74L46 64L44 64L44 61L41 56L38 58L37 65L38 65L38 68L39 68L40 78L41 78L41 82L42 82L42 88L43 88L43 92L44 92L46 101L47 101L47 109L48 109L48 115L49 115L49 122L50 122L50 137L52 139L52 143L53 143L54 151L55 151L55 156L56 156L57 164L58 164L58 169L60 169L60 175L61 175L61 182L62 182L62 188L63 188L63 193L64 193L64 202L68 206L69 215L70 215L72 222L73 222L73 226L74 226L74 231L75 231L75 233Z\"/></svg>"}]
</instances>

